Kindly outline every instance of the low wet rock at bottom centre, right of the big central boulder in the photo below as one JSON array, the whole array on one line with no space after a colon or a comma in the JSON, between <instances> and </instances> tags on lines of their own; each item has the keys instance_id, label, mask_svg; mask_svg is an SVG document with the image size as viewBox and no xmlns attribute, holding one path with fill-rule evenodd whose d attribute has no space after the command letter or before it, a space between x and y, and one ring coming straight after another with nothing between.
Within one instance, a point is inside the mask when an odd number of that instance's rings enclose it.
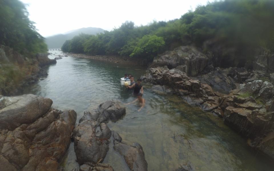
<instances>
[{"instance_id":1,"label":"low wet rock at bottom centre, right of the big central boulder","mask_svg":"<svg viewBox=\"0 0 274 171\"><path fill-rule=\"evenodd\" d=\"M148 163L146 162L145 154L140 144L135 143L130 146L122 142L114 141L114 150L124 157L130 170L148 170Z\"/></svg>"}]
</instances>

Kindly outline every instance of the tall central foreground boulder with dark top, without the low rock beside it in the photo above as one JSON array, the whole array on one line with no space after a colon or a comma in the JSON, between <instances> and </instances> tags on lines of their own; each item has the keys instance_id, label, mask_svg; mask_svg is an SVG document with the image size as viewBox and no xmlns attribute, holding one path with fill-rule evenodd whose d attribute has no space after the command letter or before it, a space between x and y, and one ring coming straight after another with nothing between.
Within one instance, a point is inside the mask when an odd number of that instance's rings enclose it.
<instances>
[{"instance_id":1,"label":"tall central foreground boulder with dark top, without the low rock beside it","mask_svg":"<svg viewBox=\"0 0 274 171\"><path fill-rule=\"evenodd\" d=\"M109 150L111 137L111 131L104 122L116 121L125 113L125 107L114 101L106 101L97 109L84 112L73 131L74 151L80 165L95 166L103 161Z\"/></svg>"}]
</instances>

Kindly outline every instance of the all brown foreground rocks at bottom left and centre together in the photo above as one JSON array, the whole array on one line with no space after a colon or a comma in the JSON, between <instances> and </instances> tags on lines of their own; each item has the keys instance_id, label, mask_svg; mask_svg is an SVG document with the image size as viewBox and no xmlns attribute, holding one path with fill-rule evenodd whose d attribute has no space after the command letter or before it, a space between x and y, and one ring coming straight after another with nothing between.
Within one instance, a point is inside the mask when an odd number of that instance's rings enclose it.
<instances>
[{"instance_id":1,"label":"all brown foreground rocks at bottom left and centre together","mask_svg":"<svg viewBox=\"0 0 274 171\"><path fill-rule=\"evenodd\" d=\"M142 146L123 142L107 126L108 121L126 114L125 107L106 101L97 109L85 111L74 128L76 112L53 109L52 103L32 94L0 95L1 170L63 170L59 162L72 138L81 171L113 171L109 164L102 163L109 148L124 158L129 170L147 170Z\"/></svg>"}]
</instances>

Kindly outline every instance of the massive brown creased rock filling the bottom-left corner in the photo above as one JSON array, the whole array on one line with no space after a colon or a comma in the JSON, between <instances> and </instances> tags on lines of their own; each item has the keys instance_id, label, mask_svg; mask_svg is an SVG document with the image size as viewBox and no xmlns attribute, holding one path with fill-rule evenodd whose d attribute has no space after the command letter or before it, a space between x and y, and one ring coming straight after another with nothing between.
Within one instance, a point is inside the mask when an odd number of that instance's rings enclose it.
<instances>
[{"instance_id":1,"label":"massive brown creased rock filling the bottom-left corner","mask_svg":"<svg viewBox=\"0 0 274 171\"><path fill-rule=\"evenodd\" d=\"M0 95L1 170L58 170L76 113L53 109L51 104L51 99L37 95Z\"/></svg>"}]
</instances>

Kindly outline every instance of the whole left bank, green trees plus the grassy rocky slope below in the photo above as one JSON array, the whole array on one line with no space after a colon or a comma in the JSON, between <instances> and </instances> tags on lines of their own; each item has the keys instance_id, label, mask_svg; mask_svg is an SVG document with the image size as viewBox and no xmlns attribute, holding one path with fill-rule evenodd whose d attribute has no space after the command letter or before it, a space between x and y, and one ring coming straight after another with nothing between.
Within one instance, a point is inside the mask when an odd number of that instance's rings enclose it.
<instances>
[{"instance_id":1,"label":"whole left bank, green trees plus the grassy rocky slope below","mask_svg":"<svg viewBox=\"0 0 274 171\"><path fill-rule=\"evenodd\" d=\"M28 81L37 80L41 67L56 60L45 54L44 38L21 1L1 0L0 16L0 95L11 95L19 93Z\"/></svg>"}]
</instances>

